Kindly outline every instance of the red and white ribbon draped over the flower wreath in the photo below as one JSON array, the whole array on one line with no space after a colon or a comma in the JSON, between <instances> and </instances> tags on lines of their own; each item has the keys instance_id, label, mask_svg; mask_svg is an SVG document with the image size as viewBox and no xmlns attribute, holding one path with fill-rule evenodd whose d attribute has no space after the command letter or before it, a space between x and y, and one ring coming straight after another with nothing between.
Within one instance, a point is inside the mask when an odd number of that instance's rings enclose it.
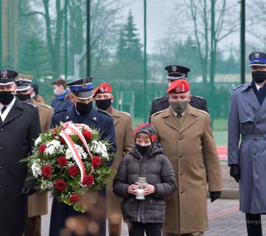
<instances>
[{"instance_id":1,"label":"red and white ribbon draped over the flower wreath","mask_svg":"<svg viewBox=\"0 0 266 236\"><path fill-rule=\"evenodd\" d=\"M62 138L64 138L64 141L67 143L67 146L69 146L69 149L74 157L74 160L76 161L76 164L79 167L79 170L81 171L81 182L84 183L85 181L85 167L83 165L83 162L81 160L81 156L79 155L78 150L76 149L76 146L74 144L74 141L71 139L71 132L73 132L74 134L76 134L77 136L79 136L79 138L81 139L83 145L86 148L86 151L89 155L89 157L91 158L91 171L90 174L93 172L93 155L91 155L90 150L88 149L88 144L86 143L86 139L84 138L83 134L81 133L80 128L83 128L87 131L90 131L91 133L93 132L93 130L87 126L86 124L73 124L70 122L65 122L64 123L64 129L62 129L62 131L60 131L59 135L62 136Z\"/></svg>"}]
</instances>

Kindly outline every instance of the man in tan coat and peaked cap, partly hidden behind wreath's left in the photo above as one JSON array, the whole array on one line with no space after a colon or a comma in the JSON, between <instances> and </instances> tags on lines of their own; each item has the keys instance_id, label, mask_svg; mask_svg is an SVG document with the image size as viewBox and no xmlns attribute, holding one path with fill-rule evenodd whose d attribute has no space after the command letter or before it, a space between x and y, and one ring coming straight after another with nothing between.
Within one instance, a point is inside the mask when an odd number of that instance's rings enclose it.
<instances>
[{"instance_id":1,"label":"man in tan coat and peaked cap, partly hidden behind wreath's left","mask_svg":"<svg viewBox=\"0 0 266 236\"><path fill-rule=\"evenodd\" d=\"M50 129L51 117L54 113L52 107L33 100L33 90L31 89L33 76L19 73L16 77L16 97L21 101L30 102L36 105L40 116L40 131ZM41 235L41 216L48 213L47 192L37 192L28 198L28 228L25 236Z\"/></svg>"}]
</instances>

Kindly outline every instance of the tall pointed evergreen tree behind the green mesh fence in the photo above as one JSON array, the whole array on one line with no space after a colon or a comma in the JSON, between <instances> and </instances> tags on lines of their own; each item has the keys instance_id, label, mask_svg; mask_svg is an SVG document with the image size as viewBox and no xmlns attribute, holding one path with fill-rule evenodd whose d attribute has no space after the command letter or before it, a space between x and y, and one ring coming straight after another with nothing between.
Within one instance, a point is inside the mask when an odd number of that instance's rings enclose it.
<instances>
[{"instance_id":1,"label":"tall pointed evergreen tree behind the green mesh fence","mask_svg":"<svg viewBox=\"0 0 266 236\"><path fill-rule=\"evenodd\" d=\"M116 49L116 65L114 78L118 91L134 90L134 102L138 104L135 110L137 117L144 114L144 60L141 40L137 33L132 13L129 12L127 22L120 30Z\"/></svg>"}]
</instances>

